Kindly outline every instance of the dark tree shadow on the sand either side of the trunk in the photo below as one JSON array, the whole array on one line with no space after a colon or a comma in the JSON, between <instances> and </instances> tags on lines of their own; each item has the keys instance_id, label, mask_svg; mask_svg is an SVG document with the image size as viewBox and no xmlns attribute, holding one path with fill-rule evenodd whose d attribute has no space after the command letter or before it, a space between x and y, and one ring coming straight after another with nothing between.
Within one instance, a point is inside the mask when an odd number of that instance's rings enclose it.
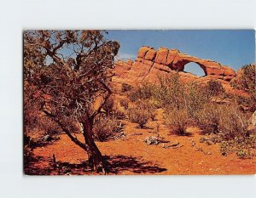
<instances>
[{"instance_id":1,"label":"dark tree shadow on the sand either side of the trunk","mask_svg":"<svg viewBox=\"0 0 256 198\"><path fill-rule=\"evenodd\" d=\"M152 165L149 161L131 156L105 156L110 164L109 174L131 172L129 174L154 174L166 171L166 168ZM26 175L84 175L94 174L88 165L88 161L81 163L69 163L57 161L54 167L50 158L31 157L24 163Z\"/></svg>"}]
</instances>

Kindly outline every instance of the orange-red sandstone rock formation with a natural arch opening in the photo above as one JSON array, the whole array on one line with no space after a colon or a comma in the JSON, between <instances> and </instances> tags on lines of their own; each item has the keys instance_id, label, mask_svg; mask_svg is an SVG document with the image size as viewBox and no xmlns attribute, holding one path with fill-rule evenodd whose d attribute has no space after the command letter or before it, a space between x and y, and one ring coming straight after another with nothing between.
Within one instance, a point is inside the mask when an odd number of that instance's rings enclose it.
<instances>
[{"instance_id":1,"label":"orange-red sandstone rock formation with a natural arch opening","mask_svg":"<svg viewBox=\"0 0 256 198\"><path fill-rule=\"evenodd\" d=\"M191 62L200 65L205 76L200 77L184 72L184 66ZM179 71L181 80L185 82L208 82L214 79L229 84L236 76L236 72L232 68L213 60L182 54L177 49L159 48L155 50L144 46L138 50L137 59L134 62L129 60L116 63L112 82L131 85L144 81L157 82L159 76L175 71Z\"/></svg>"}]
</instances>

